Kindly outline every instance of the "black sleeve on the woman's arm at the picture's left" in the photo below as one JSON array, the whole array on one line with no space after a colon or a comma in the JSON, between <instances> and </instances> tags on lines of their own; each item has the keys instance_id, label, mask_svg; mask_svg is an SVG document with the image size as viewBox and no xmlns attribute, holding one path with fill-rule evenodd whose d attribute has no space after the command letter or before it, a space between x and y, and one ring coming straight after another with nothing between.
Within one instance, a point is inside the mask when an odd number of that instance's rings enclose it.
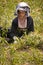
<instances>
[{"instance_id":1,"label":"black sleeve on the woman's arm at the picture's left","mask_svg":"<svg viewBox=\"0 0 43 65\"><path fill-rule=\"evenodd\" d=\"M9 32L9 38L13 38L17 33L17 19L12 21L11 30Z\"/></svg>"}]
</instances>

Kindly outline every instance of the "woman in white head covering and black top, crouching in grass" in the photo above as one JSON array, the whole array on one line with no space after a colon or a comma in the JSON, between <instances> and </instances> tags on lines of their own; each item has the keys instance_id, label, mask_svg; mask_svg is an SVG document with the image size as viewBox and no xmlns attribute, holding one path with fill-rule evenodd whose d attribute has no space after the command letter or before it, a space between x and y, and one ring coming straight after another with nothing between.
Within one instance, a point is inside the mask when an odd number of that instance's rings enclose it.
<instances>
[{"instance_id":1,"label":"woman in white head covering and black top, crouching in grass","mask_svg":"<svg viewBox=\"0 0 43 65\"><path fill-rule=\"evenodd\" d=\"M29 14L30 7L27 3L21 2L17 5L17 17L12 22L11 32L8 35L9 38L12 39L14 36L21 37L24 34L24 31L27 34L34 31L33 19Z\"/></svg>"}]
</instances>

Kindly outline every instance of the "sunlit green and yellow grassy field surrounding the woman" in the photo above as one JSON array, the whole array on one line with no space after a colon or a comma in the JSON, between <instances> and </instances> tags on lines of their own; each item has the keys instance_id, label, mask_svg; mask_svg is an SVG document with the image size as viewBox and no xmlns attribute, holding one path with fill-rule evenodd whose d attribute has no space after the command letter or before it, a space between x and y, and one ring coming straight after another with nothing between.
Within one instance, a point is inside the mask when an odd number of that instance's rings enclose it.
<instances>
[{"instance_id":1,"label":"sunlit green and yellow grassy field surrounding the woman","mask_svg":"<svg viewBox=\"0 0 43 65\"><path fill-rule=\"evenodd\" d=\"M5 33L11 27L16 5L21 1L27 2L31 8L35 31L28 36L24 33L22 38L9 44ZM3 27L0 65L43 65L43 0L0 0L0 26Z\"/></svg>"}]
</instances>

